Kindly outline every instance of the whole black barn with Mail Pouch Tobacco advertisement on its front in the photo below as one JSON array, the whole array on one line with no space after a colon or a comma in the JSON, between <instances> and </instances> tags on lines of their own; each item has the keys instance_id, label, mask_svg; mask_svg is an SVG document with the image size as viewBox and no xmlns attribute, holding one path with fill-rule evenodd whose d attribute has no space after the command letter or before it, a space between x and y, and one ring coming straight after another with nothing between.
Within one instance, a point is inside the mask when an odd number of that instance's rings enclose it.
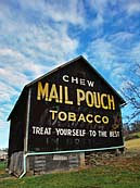
<instances>
[{"instance_id":1,"label":"whole black barn with Mail Pouch Tobacco advertisement on its front","mask_svg":"<svg viewBox=\"0 0 140 188\"><path fill-rule=\"evenodd\" d=\"M9 172L69 170L84 164L85 152L124 148L123 105L81 55L35 79L8 117Z\"/></svg>"}]
</instances>

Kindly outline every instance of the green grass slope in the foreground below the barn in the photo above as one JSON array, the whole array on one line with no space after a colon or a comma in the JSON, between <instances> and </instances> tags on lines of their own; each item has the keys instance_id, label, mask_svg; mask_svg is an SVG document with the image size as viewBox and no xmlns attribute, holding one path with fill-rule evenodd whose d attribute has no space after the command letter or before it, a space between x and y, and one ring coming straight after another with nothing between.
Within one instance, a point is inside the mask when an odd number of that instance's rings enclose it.
<instances>
[{"instance_id":1,"label":"green grass slope in the foreground below the barn","mask_svg":"<svg viewBox=\"0 0 140 188\"><path fill-rule=\"evenodd\" d=\"M3 172L0 164L0 172ZM15 177L1 177L0 188L140 188L140 154L118 156L104 166L78 172Z\"/></svg>"}]
</instances>

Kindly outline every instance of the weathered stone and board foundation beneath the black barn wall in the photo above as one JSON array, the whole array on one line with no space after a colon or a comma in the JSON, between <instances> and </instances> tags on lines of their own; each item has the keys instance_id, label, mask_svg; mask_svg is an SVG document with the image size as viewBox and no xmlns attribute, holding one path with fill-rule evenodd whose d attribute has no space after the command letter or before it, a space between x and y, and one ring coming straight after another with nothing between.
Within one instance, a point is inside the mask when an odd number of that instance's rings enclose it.
<instances>
[{"instance_id":1,"label":"weathered stone and board foundation beneath the black barn wall","mask_svg":"<svg viewBox=\"0 0 140 188\"><path fill-rule=\"evenodd\" d=\"M105 165L123 151L98 151L66 154L28 155L26 173L30 175L79 170L90 165ZM9 173L20 177L24 171L23 152L15 152L10 159Z\"/></svg>"}]
</instances>

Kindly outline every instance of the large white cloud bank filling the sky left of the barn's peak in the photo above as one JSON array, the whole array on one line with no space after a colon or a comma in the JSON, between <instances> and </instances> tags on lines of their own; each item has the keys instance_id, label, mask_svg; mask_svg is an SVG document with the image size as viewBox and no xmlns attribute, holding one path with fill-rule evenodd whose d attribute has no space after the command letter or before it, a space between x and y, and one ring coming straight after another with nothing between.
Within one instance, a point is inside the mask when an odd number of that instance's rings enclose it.
<instances>
[{"instance_id":1,"label":"large white cloud bank filling the sky left of the barn's peak","mask_svg":"<svg viewBox=\"0 0 140 188\"><path fill-rule=\"evenodd\" d=\"M16 2L20 9L0 2L0 127L5 131L22 88L75 54L79 43L69 37L68 24L85 22L78 1L69 1L68 11L65 1L58 8L49 1Z\"/></svg>"}]
</instances>

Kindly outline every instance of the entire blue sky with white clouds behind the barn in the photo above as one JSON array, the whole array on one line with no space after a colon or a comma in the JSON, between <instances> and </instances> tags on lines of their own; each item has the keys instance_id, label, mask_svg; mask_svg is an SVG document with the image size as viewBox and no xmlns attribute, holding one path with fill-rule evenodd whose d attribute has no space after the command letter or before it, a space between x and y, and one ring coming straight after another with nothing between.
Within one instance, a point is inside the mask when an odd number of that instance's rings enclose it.
<instances>
[{"instance_id":1,"label":"entire blue sky with white clouds behind the barn","mask_svg":"<svg viewBox=\"0 0 140 188\"><path fill-rule=\"evenodd\" d=\"M0 148L23 87L78 55L127 87L140 63L140 0L0 0Z\"/></svg>"}]
</instances>

